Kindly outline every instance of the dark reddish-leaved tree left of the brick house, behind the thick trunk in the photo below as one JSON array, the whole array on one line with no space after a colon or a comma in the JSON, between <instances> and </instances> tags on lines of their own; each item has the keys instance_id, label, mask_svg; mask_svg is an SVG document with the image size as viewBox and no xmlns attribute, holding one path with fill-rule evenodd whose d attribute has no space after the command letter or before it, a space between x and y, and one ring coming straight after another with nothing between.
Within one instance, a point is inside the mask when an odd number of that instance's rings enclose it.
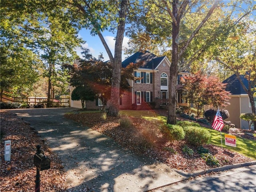
<instances>
[{"instance_id":1,"label":"dark reddish-leaved tree left of the brick house, behind the thick trunk","mask_svg":"<svg viewBox=\"0 0 256 192\"><path fill-rule=\"evenodd\" d=\"M84 108L85 100L100 99L103 104L103 109L107 105L111 97L112 88L112 64L110 62L103 62L102 55L98 58L92 56L88 49L84 49L84 58L73 65L66 65L71 76L70 85L76 87L73 91L74 100L82 101L82 108ZM78 64L77 64L78 63ZM130 90L127 79L134 80L132 72L138 68L139 64L131 63L126 68L122 68L120 78L120 95L123 91ZM120 98L120 95L118 98Z\"/></svg>"}]
</instances>

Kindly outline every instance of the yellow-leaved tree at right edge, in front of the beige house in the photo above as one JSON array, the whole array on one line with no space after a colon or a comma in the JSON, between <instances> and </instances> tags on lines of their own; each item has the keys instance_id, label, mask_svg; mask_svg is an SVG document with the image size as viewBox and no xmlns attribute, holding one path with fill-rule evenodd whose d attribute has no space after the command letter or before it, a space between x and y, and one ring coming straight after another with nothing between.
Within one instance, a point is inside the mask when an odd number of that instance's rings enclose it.
<instances>
[{"instance_id":1,"label":"yellow-leaved tree at right edge, in front of the beige house","mask_svg":"<svg viewBox=\"0 0 256 192\"><path fill-rule=\"evenodd\" d=\"M252 12L253 13L253 12ZM256 13L256 6L254 9ZM219 46L215 59L225 68L236 74L242 88L248 94L252 114L256 114L254 96L256 96L256 17L247 14L232 18L228 38ZM247 79L244 83L241 76ZM254 122L254 126L256 122Z\"/></svg>"}]
</instances>

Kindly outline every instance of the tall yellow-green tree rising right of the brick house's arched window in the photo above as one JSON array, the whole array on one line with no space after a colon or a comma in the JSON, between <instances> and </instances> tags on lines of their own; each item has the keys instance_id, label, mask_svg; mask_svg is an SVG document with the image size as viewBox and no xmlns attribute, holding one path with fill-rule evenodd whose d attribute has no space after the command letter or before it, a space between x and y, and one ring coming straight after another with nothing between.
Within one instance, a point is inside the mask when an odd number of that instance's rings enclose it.
<instances>
[{"instance_id":1,"label":"tall yellow-green tree rising right of the brick house's arched window","mask_svg":"<svg viewBox=\"0 0 256 192\"><path fill-rule=\"evenodd\" d=\"M212 46L218 47L218 42L225 40L228 35L230 14L247 14L251 11L250 2L243 2L249 5L248 10L243 10L241 6L244 4L241 1L222 3L217 0L147 0L144 1L144 8L135 14L135 24L129 32L134 35L138 31L145 31L154 39L156 45L164 44L169 49L165 53L172 62L168 123L176 124L175 86L178 72L192 67L192 64L202 64L206 58L211 61L209 52L212 51ZM231 11L226 12L225 8ZM138 30L134 30L135 26L138 26ZM206 55L206 52L209 55Z\"/></svg>"}]
</instances>

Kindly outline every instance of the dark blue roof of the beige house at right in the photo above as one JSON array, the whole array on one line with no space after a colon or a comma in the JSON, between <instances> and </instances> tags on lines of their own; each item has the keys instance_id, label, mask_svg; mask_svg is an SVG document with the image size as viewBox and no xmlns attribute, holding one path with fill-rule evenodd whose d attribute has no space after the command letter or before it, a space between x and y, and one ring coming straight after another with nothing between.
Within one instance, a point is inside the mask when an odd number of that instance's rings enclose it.
<instances>
[{"instance_id":1,"label":"dark blue roof of the beige house at right","mask_svg":"<svg viewBox=\"0 0 256 192\"><path fill-rule=\"evenodd\" d=\"M248 80L244 78L243 75L240 75L240 78L243 82L243 84L248 88ZM241 94L247 94L241 83L239 82L238 78L236 77L236 74L230 76L226 80L223 81L223 83L227 83L226 85L226 91L230 91L232 95L241 95Z\"/></svg>"}]
</instances>

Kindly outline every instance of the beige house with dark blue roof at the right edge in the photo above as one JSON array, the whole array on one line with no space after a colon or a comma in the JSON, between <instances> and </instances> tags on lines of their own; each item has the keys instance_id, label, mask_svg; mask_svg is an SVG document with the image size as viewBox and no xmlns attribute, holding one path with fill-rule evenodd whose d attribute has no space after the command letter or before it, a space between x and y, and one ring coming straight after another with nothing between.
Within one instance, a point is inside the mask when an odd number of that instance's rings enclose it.
<instances>
[{"instance_id":1,"label":"beige house with dark blue roof at the right edge","mask_svg":"<svg viewBox=\"0 0 256 192\"><path fill-rule=\"evenodd\" d=\"M240 77L246 88L248 88L248 80L244 76ZM223 83L227 83L226 90L231 93L230 105L225 108L229 112L229 118L225 121L231 121L232 124L236 125L236 128L248 129L248 122L240 119L241 113L252 113L248 94L242 88L235 74L224 80ZM254 97L254 103L256 103L256 97Z\"/></svg>"}]
</instances>

